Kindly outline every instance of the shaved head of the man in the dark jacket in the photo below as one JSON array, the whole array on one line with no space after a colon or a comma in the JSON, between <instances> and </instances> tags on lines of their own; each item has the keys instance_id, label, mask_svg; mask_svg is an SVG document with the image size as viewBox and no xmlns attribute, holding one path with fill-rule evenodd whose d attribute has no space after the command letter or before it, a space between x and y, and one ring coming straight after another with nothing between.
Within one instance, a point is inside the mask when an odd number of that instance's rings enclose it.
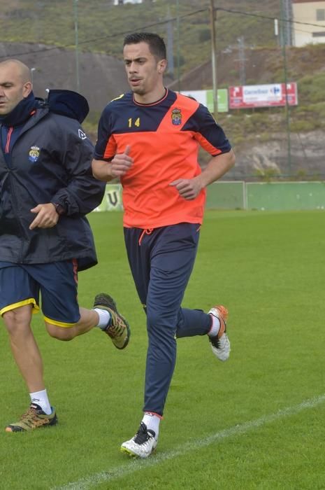
<instances>
[{"instance_id":1,"label":"shaved head of the man in the dark jacket","mask_svg":"<svg viewBox=\"0 0 325 490\"><path fill-rule=\"evenodd\" d=\"M31 71L19 59L0 62L0 116L15 109L32 90Z\"/></svg>"}]
</instances>

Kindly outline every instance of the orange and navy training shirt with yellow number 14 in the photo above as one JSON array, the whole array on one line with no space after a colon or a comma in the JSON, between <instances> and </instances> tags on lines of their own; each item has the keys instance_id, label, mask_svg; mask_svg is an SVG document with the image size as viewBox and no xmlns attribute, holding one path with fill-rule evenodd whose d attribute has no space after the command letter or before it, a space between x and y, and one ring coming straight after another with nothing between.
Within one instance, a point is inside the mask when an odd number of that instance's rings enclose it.
<instances>
[{"instance_id":1,"label":"orange and navy training shirt with yellow number 14","mask_svg":"<svg viewBox=\"0 0 325 490\"><path fill-rule=\"evenodd\" d=\"M127 145L133 165L121 179L124 226L202 223L205 190L185 200L169 184L201 173L199 145L212 156L231 150L208 109L171 90L154 104L138 104L132 92L123 94L101 114L94 158L110 161Z\"/></svg>"}]
</instances>

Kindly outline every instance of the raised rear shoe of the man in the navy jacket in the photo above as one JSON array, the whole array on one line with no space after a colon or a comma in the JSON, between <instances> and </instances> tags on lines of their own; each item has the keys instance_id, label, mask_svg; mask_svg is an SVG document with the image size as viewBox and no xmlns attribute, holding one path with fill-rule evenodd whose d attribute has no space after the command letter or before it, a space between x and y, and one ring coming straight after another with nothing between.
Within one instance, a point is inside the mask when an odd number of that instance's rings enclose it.
<instances>
[{"instance_id":1,"label":"raised rear shoe of the man in the navy jacket","mask_svg":"<svg viewBox=\"0 0 325 490\"><path fill-rule=\"evenodd\" d=\"M110 322L103 329L108 337L112 339L117 349L124 349L129 344L131 330L127 320L117 311L113 297L106 293L99 293L95 296L94 308L106 309L110 313Z\"/></svg>"}]
</instances>

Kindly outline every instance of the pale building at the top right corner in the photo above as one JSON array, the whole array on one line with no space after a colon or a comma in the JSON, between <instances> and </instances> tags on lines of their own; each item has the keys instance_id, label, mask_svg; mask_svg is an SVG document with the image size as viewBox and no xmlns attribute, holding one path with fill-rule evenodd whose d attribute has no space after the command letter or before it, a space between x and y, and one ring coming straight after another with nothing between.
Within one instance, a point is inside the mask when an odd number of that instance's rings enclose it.
<instances>
[{"instance_id":1,"label":"pale building at the top right corner","mask_svg":"<svg viewBox=\"0 0 325 490\"><path fill-rule=\"evenodd\" d=\"M295 46L325 43L325 0L292 0Z\"/></svg>"}]
</instances>

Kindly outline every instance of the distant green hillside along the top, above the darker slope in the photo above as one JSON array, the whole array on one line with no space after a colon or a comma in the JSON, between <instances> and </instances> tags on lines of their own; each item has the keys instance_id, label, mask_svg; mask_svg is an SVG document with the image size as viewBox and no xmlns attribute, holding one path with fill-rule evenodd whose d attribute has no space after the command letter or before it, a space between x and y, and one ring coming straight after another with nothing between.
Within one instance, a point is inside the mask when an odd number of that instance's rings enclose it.
<instances>
[{"instance_id":1,"label":"distant green hillside along the top, above the darker slope","mask_svg":"<svg viewBox=\"0 0 325 490\"><path fill-rule=\"evenodd\" d=\"M74 47L78 20L80 50L121 57L124 34L145 29L167 40L166 20L173 18L173 54L182 74L210 58L209 6L208 0L157 0L125 6L112 6L107 0L0 0L0 41ZM218 50L236 45L240 36L247 46L276 45L273 20L264 17L279 16L278 0L218 0L215 6L243 12L217 10Z\"/></svg>"}]
</instances>

